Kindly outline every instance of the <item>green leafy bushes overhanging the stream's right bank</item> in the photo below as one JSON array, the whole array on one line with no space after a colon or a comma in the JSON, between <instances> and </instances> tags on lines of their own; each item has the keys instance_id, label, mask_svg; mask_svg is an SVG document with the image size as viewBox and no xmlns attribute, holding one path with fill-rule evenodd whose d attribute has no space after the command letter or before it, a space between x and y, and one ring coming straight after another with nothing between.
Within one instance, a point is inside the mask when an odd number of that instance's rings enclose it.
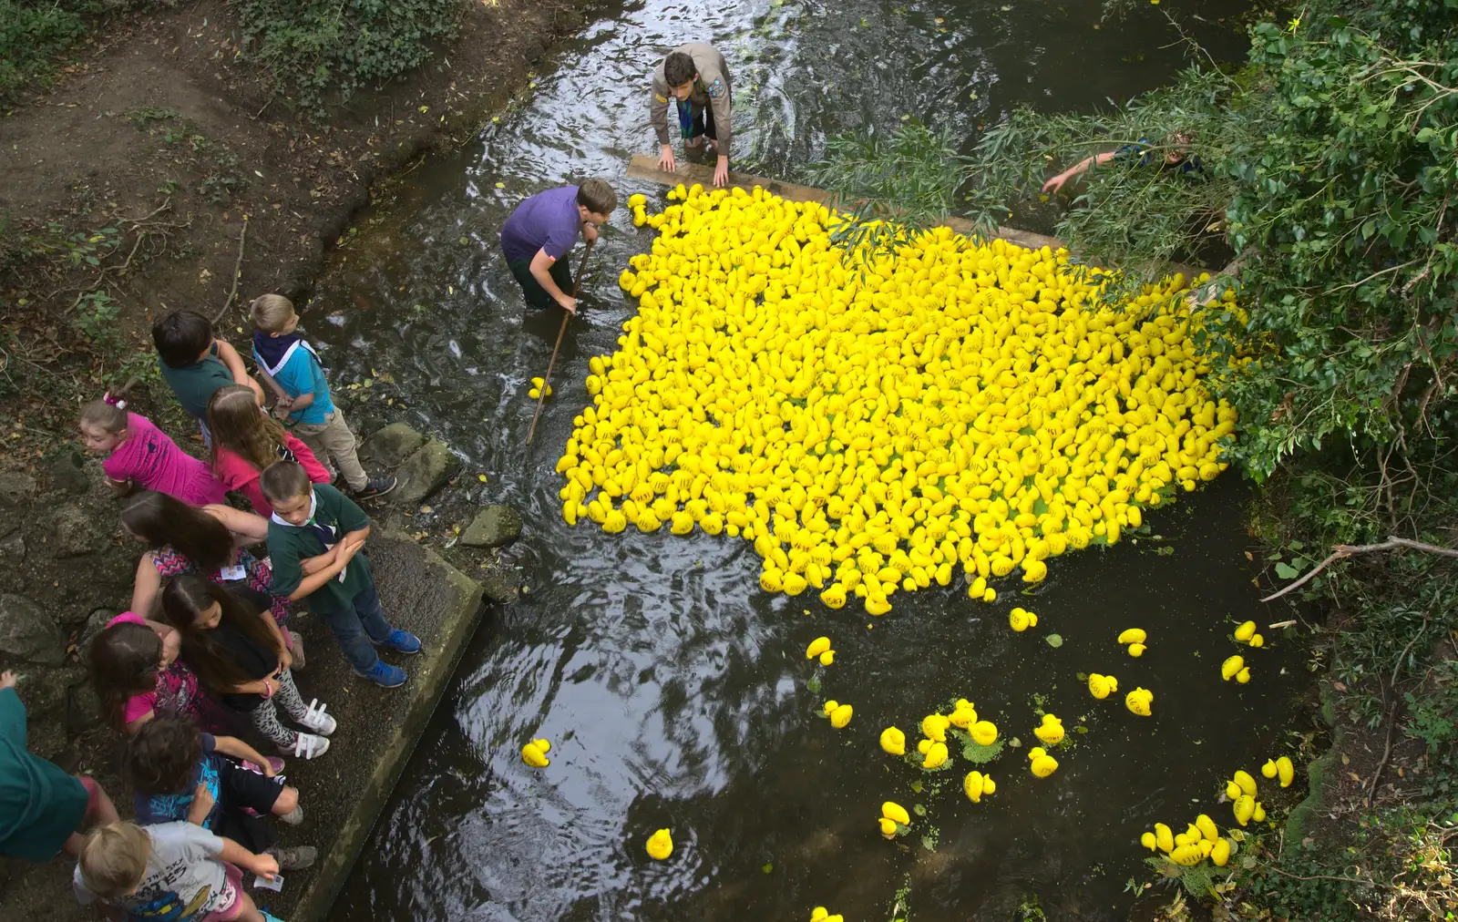
<instances>
[{"instance_id":1,"label":"green leafy bushes overhanging the stream's right bank","mask_svg":"<svg viewBox=\"0 0 1458 922\"><path fill-rule=\"evenodd\" d=\"M1197 58L1126 105L1018 109L967 146L916 124L840 142L815 178L866 219L962 213L993 233L1002 203L1112 150L1066 187L1056 233L1127 284L1233 255L1207 295L1235 287L1248 315L1206 312L1203 341L1241 416L1229 457L1266 484L1270 576L1319 569L1286 600L1327 621L1312 667L1336 745L1315 799L1190 893L1217 918L1452 918L1458 3L1318 0L1255 25L1241 69ZM1292 617L1279 605L1273 621ZM1357 741L1373 756L1347 764Z\"/></svg>"}]
</instances>

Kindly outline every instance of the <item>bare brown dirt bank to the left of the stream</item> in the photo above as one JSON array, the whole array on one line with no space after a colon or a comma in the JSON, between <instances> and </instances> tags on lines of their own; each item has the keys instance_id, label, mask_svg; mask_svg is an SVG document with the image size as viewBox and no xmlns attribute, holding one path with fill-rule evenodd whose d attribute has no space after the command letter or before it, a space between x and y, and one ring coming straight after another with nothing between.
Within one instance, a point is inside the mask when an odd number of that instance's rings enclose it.
<instances>
[{"instance_id":1,"label":"bare brown dirt bank to the left of the stream","mask_svg":"<svg viewBox=\"0 0 1458 922\"><path fill-rule=\"evenodd\" d=\"M586 7L462 1L430 61L318 123L241 55L226 3L156 6L96 20L54 86L0 109L0 668L25 674L32 748L95 772L124 814L120 738L79 655L125 607L137 549L80 455L76 408L155 378L147 331L169 308L242 343L248 298L302 303L370 187L472 137ZM165 394L143 388L136 408L188 433ZM85 918L58 862L0 859L0 918Z\"/></svg>"}]
</instances>

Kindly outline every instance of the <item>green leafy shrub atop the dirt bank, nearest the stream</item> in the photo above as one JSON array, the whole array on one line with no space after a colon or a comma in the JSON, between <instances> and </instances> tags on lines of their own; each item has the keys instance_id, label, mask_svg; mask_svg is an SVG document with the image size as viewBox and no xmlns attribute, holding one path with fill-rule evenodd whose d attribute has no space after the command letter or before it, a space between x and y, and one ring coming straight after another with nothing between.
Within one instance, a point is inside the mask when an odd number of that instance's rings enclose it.
<instances>
[{"instance_id":1,"label":"green leafy shrub atop the dirt bank, nearest the stream","mask_svg":"<svg viewBox=\"0 0 1458 922\"><path fill-rule=\"evenodd\" d=\"M452 35L462 0L236 0L248 54L278 92L315 114L330 93L418 67L430 42Z\"/></svg>"}]
</instances>

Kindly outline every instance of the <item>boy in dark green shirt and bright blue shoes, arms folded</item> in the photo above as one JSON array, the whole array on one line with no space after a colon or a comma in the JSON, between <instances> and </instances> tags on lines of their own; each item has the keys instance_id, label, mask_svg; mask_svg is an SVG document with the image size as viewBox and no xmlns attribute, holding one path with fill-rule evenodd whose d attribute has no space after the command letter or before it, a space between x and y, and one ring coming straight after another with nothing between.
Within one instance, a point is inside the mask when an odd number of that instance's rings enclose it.
<instances>
[{"instance_id":1,"label":"boy in dark green shirt and bright blue shoes, arms folded","mask_svg":"<svg viewBox=\"0 0 1458 922\"><path fill-rule=\"evenodd\" d=\"M385 620L362 553L369 516L334 487L309 483L309 474L293 461L264 468L260 489L274 509L268 519L274 595L306 600L359 675L385 689L405 684L405 671L381 661L375 648L418 654L420 638Z\"/></svg>"}]
</instances>

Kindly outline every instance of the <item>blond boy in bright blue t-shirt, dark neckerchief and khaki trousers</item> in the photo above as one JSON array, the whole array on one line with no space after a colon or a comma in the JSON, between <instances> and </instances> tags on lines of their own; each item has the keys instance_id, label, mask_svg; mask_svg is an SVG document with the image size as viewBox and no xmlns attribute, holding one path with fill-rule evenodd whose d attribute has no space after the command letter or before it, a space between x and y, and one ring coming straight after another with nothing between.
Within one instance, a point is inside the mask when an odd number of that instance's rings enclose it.
<instances>
[{"instance_id":1,"label":"blond boy in bright blue t-shirt, dark neckerchief and khaki trousers","mask_svg":"<svg viewBox=\"0 0 1458 922\"><path fill-rule=\"evenodd\" d=\"M398 483L394 477L370 477L360 465L354 433L330 395L319 353L299 334L293 302L283 295L262 295L254 299L248 314L257 327L254 360L278 400L274 416L309 446L331 476L338 467L351 499L373 499L394 490Z\"/></svg>"}]
</instances>

